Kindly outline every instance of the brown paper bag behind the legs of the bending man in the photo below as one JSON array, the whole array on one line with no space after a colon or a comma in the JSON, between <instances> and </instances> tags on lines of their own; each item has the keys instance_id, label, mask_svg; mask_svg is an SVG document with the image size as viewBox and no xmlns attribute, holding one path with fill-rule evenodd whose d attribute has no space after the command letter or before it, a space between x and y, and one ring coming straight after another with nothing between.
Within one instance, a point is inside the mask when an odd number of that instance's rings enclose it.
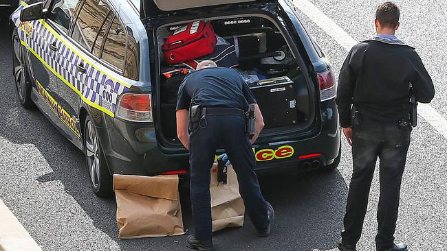
<instances>
[{"instance_id":1,"label":"brown paper bag behind the legs of the bending man","mask_svg":"<svg viewBox=\"0 0 447 251\"><path fill-rule=\"evenodd\" d=\"M235 170L231 165L227 169L227 184L217 182L217 163L212 166L210 193L212 232L227 227L243 226L246 208L239 194Z\"/></svg>"}]
</instances>

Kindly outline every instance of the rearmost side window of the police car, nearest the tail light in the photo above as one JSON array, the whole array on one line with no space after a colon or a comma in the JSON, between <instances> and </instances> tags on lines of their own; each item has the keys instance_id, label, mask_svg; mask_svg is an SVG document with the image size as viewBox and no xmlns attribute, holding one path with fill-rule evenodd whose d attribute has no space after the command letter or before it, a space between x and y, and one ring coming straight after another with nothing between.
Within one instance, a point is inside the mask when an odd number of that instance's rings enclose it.
<instances>
[{"instance_id":1,"label":"rearmost side window of the police car, nearest the tail light","mask_svg":"<svg viewBox=\"0 0 447 251\"><path fill-rule=\"evenodd\" d=\"M126 42L126 32L121 25L120 19L115 16L105 40L102 59L121 71L124 69Z\"/></svg>"}]
</instances>

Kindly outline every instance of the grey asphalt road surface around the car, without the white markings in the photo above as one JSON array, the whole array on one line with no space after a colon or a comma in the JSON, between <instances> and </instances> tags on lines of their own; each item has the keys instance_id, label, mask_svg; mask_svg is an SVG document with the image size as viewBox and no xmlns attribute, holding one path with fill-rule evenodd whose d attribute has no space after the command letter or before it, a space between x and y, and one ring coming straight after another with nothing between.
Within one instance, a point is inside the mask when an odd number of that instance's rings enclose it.
<instances>
[{"instance_id":1,"label":"grey asphalt road surface around the car, without the white markings","mask_svg":"<svg viewBox=\"0 0 447 251\"><path fill-rule=\"evenodd\" d=\"M356 40L374 32L380 1L312 0ZM396 1L402 9L398 36L424 60L437 90L433 107L447 118L447 3ZM298 11L309 32L325 49L336 72L347 51ZM1 19L1 18L0 18ZM116 204L91 192L85 158L39 110L17 101L11 70L10 36L0 21L0 198L43 250L185 250L185 236L119 240ZM411 251L447 248L446 139L423 119L413 130L402 184L395 237ZM349 145L343 142L336 171L300 176L261 177L265 198L275 208L272 235L259 239L247 219L243 228L214 235L219 250L331 250L342 230L347 184L351 176ZM190 204L182 192L185 228L191 229ZM378 172L359 250L375 250ZM1 216L0 216L1 217ZM1 219L0 219L1 222ZM0 225L1 227L1 225Z\"/></svg>"}]
</instances>

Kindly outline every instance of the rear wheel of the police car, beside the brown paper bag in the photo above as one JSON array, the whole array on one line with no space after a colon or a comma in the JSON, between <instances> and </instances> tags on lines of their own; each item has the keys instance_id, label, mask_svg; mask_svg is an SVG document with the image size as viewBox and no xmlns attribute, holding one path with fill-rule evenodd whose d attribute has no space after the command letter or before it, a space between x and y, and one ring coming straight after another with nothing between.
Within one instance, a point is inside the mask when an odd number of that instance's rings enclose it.
<instances>
[{"instance_id":1,"label":"rear wheel of the police car, beside the brown paper bag","mask_svg":"<svg viewBox=\"0 0 447 251\"><path fill-rule=\"evenodd\" d=\"M83 141L91 187L98 197L109 198L113 194L112 178L89 115L85 119Z\"/></svg>"}]
</instances>

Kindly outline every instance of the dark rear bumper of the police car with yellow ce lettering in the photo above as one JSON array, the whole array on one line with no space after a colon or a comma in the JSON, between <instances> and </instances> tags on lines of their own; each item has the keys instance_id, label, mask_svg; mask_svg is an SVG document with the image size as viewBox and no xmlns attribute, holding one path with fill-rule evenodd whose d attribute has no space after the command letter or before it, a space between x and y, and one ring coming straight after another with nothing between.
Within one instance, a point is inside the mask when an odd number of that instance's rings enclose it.
<instances>
[{"instance_id":1,"label":"dark rear bumper of the police car with yellow ce lettering","mask_svg":"<svg viewBox=\"0 0 447 251\"><path fill-rule=\"evenodd\" d=\"M320 131L309 139L255 145L257 172L306 171L303 163L318 161L330 165L338 156L340 127L334 100L321 104ZM101 129L98 129L101 130ZM163 154L157 144L153 125L113 121L113 130L100 132L107 163L114 174L153 176L166 171L188 170L189 155ZM309 156L303 158L303 156ZM317 155L317 156L315 156ZM311 168L312 169L312 168Z\"/></svg>"}]
</instances>

